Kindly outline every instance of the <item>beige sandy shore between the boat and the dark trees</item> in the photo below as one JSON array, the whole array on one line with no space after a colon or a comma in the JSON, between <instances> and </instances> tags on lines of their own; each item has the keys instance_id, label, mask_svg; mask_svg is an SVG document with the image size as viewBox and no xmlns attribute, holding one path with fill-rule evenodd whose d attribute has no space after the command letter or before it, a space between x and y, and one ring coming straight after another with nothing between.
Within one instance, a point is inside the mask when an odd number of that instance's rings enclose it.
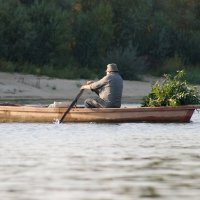
<instances>
[{"instance_id":1,"label":"beige sandy shore between the boat and the dark trees","mask_svg":"<svg viewBox=\"0 0 200 200\"><path fill-rule=\"evenodd\" d=\"M141 102L142 98L150 92L151 84L157 79L149 77L145 81L124 81L123 103ZM80 85L86 80L66 80L24 74L0 73L0 100L19 101L71 101L79 93ZM84 91L80 98L95 96L91 91Z\"/></svg>"}]
</instances>

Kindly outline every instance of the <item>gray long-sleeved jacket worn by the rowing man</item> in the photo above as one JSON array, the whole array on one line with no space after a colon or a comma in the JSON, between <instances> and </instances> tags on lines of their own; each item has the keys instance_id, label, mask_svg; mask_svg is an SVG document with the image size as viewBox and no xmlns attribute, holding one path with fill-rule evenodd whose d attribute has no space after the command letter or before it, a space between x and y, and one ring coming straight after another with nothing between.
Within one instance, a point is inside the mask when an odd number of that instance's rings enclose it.
<instances>
[{"instance_id":1,"label":"gray long-sleeved jacket worn by the rowing man","mask_svg":"<svg viewBox=\"0 0 200 200\"><path fill-rule=\"evenodd\" d=\"M92 83L90 88L105 101L106 107L119 108L121 106L123 79L119 73L112 72L104 76L99 81Z\"/></svg>"}]
</instances>

